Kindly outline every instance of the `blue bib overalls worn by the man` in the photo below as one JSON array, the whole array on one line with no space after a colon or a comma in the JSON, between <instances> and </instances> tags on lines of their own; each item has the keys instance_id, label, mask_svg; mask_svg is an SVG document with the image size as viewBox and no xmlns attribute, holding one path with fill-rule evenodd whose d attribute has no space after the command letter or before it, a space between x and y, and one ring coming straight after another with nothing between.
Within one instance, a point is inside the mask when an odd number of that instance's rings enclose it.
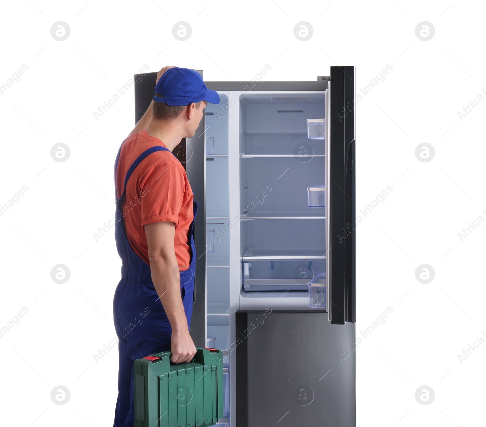
<instances>
[{"instance_id":1,"label":"blue bib overalls worn by the man","mask_svg":"<svg viewBox=\"0 0 486 427\"><path fill-rule=\"evenodd\" d=\"M123 141L124 142L124 141ZM123 143L122 143L123 145ZM117 204L115 219L115 240L118 254L121 257L121 280L113 298L113 319L120 342L118 399L115 410L114 427L134 427L134 392L133 392L133 362L148 356L171 349L172 327L167 318L157 291L152 282L150 266L140 258L130 246L126 238L123 221L123 201L126 184L132 172L139 163L156 151L165 147L151 147L139 155L129 168L124 181L123 193L117 200L116 171L120 150L115 161L115 200ZM172 154L172 153L171 153ZM194 273L196 265L196 250L192 238L192 228L197 213L197 203L192 202L194 219L188 231L188 241L191 239L191 261L188 270L180 272L181 298L186 312L187 324L191 325L192 298L194 290Z\"/></svg>"}]
</instances>

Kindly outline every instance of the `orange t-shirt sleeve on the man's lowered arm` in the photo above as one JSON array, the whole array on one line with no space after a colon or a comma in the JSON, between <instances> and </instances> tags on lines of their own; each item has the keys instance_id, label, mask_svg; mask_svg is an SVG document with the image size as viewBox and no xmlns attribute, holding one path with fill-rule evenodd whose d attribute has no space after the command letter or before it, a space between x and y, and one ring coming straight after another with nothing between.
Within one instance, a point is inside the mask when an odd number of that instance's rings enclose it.
<instances>
[{"instance_id":1,"label":"orange t-shirt sleeve on the man's lowered arm","mask_svg":"<svg viewBox=\"0 0 486 427\"><path fill-rule=\"evenodd\" d=\"M184 172L180 166L168 163L151 169L140 188L140 225L172 221L177 227L184 188Z\"/></svg>"}]
</instances>

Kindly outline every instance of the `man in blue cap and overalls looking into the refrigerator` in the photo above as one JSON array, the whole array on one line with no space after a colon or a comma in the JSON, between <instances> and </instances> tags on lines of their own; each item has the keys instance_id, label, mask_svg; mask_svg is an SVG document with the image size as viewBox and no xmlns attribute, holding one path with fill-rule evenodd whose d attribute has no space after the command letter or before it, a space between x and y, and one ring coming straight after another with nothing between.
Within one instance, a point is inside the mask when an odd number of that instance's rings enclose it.
<instances>
[{"instance_id":1,"label":"man in blue cap and overalls looking into the refrigerator","mask_svg":"<svg viewBox=\"0 0 486 427\"><path fill-rule=\"evenodd\" d=\"M115 239L122 267L113 299L120 340L114 427L134 426L135 359L171 350L171 361L181 363L196 353L189 327L197 203L172 150L194 136L208 102L219 103L219 95L197 72L162 68L154 100L116 158Z\"/></svg>"}]
</instances>

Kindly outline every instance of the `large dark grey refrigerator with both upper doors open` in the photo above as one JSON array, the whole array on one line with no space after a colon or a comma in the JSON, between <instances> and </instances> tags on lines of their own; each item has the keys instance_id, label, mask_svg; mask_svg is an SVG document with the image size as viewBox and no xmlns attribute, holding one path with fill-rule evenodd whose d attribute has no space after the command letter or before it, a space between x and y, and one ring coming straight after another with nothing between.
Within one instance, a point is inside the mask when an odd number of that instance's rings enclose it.
<instances>
[{"instance_id":1,"label":"large dark grey refrigerator with both upper doors open","mask_svg":"<svg viewBox=\"0 0 486 427\"><path fill-rule=\"evenodd\" d=\"M224 351L217 426L355 426L355 68L266 71L205 82L220 103L173 151L199 203L191 336ZM135 82L137 122L156 72Z\"/></svg>"}]
</instances>

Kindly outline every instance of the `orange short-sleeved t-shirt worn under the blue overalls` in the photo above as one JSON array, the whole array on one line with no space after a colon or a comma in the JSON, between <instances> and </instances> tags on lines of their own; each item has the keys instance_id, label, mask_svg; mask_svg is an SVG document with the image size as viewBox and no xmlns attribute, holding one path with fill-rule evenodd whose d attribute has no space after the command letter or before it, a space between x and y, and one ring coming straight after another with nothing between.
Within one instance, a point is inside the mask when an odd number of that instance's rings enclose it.
<instances>
[{"instance_id":1,"label":"orange short-sleeved t-shirt worn under the blue overalls","mask_svg":"<svg viewBox=\"0 0 486 427\"><path fill-rule=\"evenodd\" d=\"M165 147L158 138L144 129L123 142L116 172L117 197L121 197L125 175L145 150ZM186 171L170 151L149 154L135 168L126 186L123 218L127 239L134 252L147 264L148 247L145 224L172 221L175 224L174 249L179 270L189 269L191 240L189 226L193 219L192 189Z\"/></svg>"}]
</instances>

